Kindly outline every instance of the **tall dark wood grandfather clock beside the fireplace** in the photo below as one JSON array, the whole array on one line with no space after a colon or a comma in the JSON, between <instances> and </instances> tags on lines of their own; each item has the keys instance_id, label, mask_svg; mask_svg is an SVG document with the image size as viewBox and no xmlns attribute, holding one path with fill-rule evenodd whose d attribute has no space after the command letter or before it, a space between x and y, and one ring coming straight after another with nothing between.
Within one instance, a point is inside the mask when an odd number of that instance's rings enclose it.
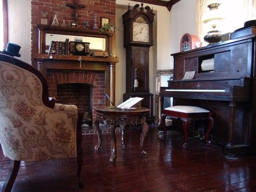
<instances>
[{"instance_id":1,"label":"tall dark wood grandfather clock beside the fireplace","mask_svg":"<svg viewBox=\"0 0 256 192\"><path fill-rule=\"evenodd\" d=\"M126 48L126 93L123 100L143 97L142 107L149 108L147 121L153 121L153 94L149 92L149 48L153 45L154 13L150 7L128 6L122 15Z\"/></svg>"}]
</instances>

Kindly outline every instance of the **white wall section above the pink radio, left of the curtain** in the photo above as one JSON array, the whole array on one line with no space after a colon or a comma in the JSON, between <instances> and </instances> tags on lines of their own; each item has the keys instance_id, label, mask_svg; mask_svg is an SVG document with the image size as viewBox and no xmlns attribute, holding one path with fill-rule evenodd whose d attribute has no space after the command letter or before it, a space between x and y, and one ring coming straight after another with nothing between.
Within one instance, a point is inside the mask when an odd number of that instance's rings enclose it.
<instances>
[{"instance_id":1,"label":"white wall section above the pink radio, left of the curtain","mask_svg":"<svg viewBox=\"0 0 256 192\"><path fill-rule=\"evenodd\" d=\"M195 34L196 0L180 0L171 8L171 53L180 52L181 38L185 33ZM173 69L173 57L171 57Z\"/></svg>"}]
</instances>

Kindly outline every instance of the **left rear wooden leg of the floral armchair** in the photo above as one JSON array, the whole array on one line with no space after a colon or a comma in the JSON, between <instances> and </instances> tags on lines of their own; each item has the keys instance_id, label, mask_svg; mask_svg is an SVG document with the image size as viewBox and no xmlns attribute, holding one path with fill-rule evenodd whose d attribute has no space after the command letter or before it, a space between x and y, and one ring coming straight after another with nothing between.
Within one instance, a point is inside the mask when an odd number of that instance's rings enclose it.
<instances>
[{"instance_id":1,"label":"left rear wooden leg of the floral armchair","mask_svg":"<svg viewBox=\"0 0 256 192\"><path fill-rule=\"evenodd\" d=\"M7 175L7 178L4 181L2 192L12 191L12 186L19 172L20 164L21 161L11 160L11 167Z\"/></svg>"}]
</instances>

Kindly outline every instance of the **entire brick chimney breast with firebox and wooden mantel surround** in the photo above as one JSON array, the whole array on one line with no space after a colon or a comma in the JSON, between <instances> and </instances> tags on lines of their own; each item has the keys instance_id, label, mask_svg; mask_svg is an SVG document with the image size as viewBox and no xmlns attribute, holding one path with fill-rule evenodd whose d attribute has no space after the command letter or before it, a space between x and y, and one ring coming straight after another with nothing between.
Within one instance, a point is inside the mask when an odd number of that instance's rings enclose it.
<instances>
[{"instance_id":1,"label":"entire brick chimney breast with firebox and wooden mantel surround","mask_svg":"<svg viewBox=\"0 0 256 192\"><path fill-rule=\"evenodd\" d=\"M116 57L99 58L75 55L45 54L46 33L67 36L93 36L106 38L106 51L115 52L114 33L99 33L93 30L94 16L109 18L115 23L115 0L77 0L84 8L77 10L77 27L69 27L75 19L75 11L66 6L75 0L32 0L32 65L47 78L49 96L55 97L62 104L74 104L89 110L95 120L94 108L109 106L105 93L115 102L115 64ZM57 15L59 26L37 24L38 10L50 12L51 22ZM89 29L85 29L85 21L89 21ZM51 23L50 22L50 23ZM78 59L81 59L81 62Z\"/></svg>"}]
</instances>

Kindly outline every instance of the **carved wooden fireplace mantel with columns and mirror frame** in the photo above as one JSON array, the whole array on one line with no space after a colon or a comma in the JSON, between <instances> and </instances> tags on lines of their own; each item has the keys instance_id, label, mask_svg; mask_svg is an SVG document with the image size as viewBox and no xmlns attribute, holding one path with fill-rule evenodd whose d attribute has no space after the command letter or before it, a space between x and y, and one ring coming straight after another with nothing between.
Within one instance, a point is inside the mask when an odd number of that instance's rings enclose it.
<instances>
[{"instance_id":1,"label":"carved wooden fireplace mantel with columns and mirror frame","mask_svg":"<svg viewBox=\"0 0 256 192\"><path fill-rule=\"evenodd\" d=\"M34 26L33 34L33 53L32 59L34 66L47 78L48 72L51 70L79 70L80 71L104 71L105 72L105 88L106 93L110 96L111 101L115 101L115 64L119 62L116 57L90 57L77 55L55 55L46 54L46 34L57 34L69 36L88 36L105 38L105 51L108 53L115 52L115 33L104 32L98 30L61 27L61 26ZM53 39L54 40L54 39ZM50 58L50 56L52 56ZM81 62L78 58L81 57ZM109 105L108 101L106 103Z\"/></svg>"}]
</instances>

